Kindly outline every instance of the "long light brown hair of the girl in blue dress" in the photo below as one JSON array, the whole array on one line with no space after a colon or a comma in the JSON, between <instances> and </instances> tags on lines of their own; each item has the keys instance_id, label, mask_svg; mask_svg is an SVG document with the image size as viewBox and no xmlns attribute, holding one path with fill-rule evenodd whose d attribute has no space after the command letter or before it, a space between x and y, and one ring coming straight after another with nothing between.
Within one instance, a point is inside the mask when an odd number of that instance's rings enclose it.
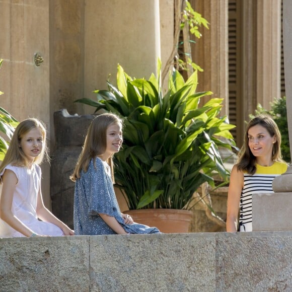
<instances>
[{"instance_id":1,"label":"long light brown hair of the girl in blue dress","mask_svg":"<svg viewBox=\"0 0 292 292\"><path fill-rule=\"evenodd\" d=\"M121 125L123 124L122 120L112 113L101 114L93 119L88 128L82 152L79 156L74 172L70 176L72 181L75 182L80 178L80 172L82 170L87 172L91 159L94 159L105 153L107 147L107 128L112 124L118 123ZM107 163L111 167L112 180L114 182L112 156L108 159ZM94 167L96 167L95 160Z\"/></svg>"}]
</instances>

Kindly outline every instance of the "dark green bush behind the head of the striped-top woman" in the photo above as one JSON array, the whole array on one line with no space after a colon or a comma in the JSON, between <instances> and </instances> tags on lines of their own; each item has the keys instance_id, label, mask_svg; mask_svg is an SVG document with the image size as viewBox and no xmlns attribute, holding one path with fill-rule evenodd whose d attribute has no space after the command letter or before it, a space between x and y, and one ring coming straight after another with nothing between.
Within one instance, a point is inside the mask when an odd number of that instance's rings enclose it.
<instances>
[{"instance_id":1,"label":"dark green bush behind the head of the striped-top woman","mask_svg":"<svg viewBox=\"0 0 292 292\"><path fill-rule=\"evenodd\" d=\"M289 145L289 135L288 135L288 122L287 122L287 109L286 109L286 97L275 98L271 103L271 110L266 110L262 105L258 104L257 109L255 110L255 115L258 114L268 114L270 115L275 123L277 124L281 137L281 153L283 160L290 163L290 145ZM253 118L254 115L250 115L250 118Z\"/></svg>"}]
</instances>

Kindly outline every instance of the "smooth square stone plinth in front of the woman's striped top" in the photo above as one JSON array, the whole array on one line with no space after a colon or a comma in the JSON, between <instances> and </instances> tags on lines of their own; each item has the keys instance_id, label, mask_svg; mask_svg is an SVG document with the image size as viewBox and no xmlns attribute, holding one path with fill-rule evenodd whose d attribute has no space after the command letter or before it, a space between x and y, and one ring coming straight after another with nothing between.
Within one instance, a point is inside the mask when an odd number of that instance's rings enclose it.
<instances>
[{"instance_id":1,"label":"smooth square stone plinth in front of the woman's striped top","mask_svg":"<svg viewBox=\"0 0 292 292\"><path fill-rule=\"evenodd\" d=\"M252 196L253 231L292 231L292 193L259 193Z\"/></svg>"}]
</instances>

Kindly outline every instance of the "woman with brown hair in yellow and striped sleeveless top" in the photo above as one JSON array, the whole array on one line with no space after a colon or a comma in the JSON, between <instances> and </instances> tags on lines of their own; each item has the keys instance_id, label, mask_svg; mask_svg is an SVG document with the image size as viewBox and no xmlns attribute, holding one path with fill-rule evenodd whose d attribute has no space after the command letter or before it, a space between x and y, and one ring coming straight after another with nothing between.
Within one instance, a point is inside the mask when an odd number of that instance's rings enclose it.
<instances>
[{"instance_id":1,"label":"woman with brown hair in yellow and striped sleeveless top","mask_svg":"<svg viewBox=\"0 0 292 292\"><path fill-rule=\"evenodd\" d=\"M272 193L273 179L287 170L281 160L281 135L267 115L253 118L247 125L244 145L234 165L227 200L227 232L252 231L252 194Z\"/></svg>"}]
</instances>

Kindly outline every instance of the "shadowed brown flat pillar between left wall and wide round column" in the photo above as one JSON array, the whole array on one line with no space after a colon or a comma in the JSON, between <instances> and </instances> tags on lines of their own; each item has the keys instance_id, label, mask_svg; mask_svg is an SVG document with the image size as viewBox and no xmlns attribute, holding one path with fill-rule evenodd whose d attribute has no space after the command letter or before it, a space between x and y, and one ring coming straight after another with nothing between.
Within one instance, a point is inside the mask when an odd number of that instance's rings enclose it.
<instances>
[{"instance_id":1,"label":"shadowed brown flat pillar between left wall and wide round column","mask_svg":"<svg viewBox=\"0 0 292 292\"><path fill-rule=\"evenodd\" d=\"M85 0L50 0L50 118L66 108L84 113L74 103L84 97L84 3ZM51 130L51 144L54 132Z\"/></svg>"}]
</instances>

